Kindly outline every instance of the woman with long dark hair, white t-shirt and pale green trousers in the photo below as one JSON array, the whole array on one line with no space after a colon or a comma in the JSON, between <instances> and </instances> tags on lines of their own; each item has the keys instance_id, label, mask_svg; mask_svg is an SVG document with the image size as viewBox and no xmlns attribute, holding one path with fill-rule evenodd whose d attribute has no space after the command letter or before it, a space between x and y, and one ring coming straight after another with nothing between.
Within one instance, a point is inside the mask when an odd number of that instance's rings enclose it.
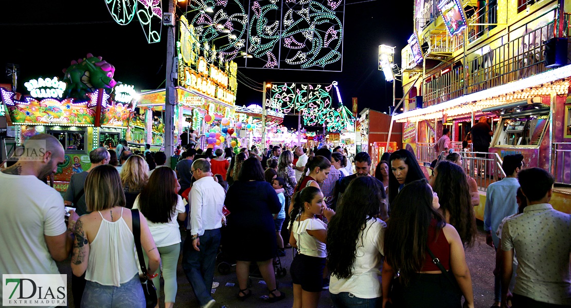
<instances>
[{"instance_id":1,"label":"woman with long dark hair, white t-shirt and pale green trousers","mask_svg":"<svg viewBox=\"0 0 571 308\"><path fill-rule=\"evenodd\" d=\"M180 184L172 169L157 168L133 204L133 208L138 208L147 220L163 261L164 306L167 308L174 306L177 289L176 265L180 254L180 231L176 219L186 219L182 198L176 193L179 189ZM147 252L144 251L143 254L147 261ZM159 275L152 279L157 298L160 298L160 270L159 268Z\"/></svg>"}]
</instances>

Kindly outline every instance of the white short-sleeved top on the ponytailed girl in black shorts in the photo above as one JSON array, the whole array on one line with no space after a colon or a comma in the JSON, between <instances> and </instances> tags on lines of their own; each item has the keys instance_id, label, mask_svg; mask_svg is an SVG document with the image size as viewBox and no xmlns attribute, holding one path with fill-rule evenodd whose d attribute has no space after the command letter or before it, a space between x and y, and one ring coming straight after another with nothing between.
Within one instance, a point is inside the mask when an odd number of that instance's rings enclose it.
<instances>
[{"instance_id":1,"label":"white short-sleeved top on the ponytailed girl in black shorts","mask_svg":"<svg viewBox=\"0 0 571 308\"><path fill-rule=\"evenodd\" d=\"M327 225L316 218L293 221L292 228L289 231L292 232L293 237L295 238L297 251L305 254L305 256L318 258L327 257L327 253L325 253L325 243L309 235L307 230L327 230Z\"/></svg>"}]
</instances>

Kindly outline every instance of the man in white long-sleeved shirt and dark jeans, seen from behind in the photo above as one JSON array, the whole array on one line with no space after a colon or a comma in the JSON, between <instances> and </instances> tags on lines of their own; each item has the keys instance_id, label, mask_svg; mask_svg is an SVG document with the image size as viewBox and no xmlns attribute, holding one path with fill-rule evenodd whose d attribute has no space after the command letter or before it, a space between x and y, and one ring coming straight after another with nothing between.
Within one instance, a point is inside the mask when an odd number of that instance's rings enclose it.
<instances>
[{"instance_id":1,"label":"man in white long-sleeved shirt and dark jeans, seen from behind","mask_svg":"<svg viewBox=\"0 0 571 308\"><path fill-rule=\"evenodd\" d=\"M192 163L196 179L190 191L190 214L184 240L182 267L201 308L213 307L210 293L214 278L216 253L220 246L224 188L210 172L210 162L196 159Z\"/></svg>"}]
</instances>

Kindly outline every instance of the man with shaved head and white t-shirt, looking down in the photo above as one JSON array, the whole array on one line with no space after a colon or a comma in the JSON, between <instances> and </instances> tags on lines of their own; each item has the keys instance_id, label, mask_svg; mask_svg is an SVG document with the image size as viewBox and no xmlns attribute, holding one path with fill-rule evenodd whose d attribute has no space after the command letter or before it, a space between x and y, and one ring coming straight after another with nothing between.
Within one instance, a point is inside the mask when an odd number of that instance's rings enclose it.
<instances>
[{"instance_id":1,"label":"man with shaved head and white t-shirt, looking down","mask_svg":"<svg viewBox=\"0 0 571 308\"><path fill-rule=\"evenodd\" d=\"M63 163L63 147L39 134L15 155L18 162L0 171L0 274L59 274L55 261L69 256L78 215L71 211L66 227L62 196L41 179Z\"/></svg>"}]
</instances>

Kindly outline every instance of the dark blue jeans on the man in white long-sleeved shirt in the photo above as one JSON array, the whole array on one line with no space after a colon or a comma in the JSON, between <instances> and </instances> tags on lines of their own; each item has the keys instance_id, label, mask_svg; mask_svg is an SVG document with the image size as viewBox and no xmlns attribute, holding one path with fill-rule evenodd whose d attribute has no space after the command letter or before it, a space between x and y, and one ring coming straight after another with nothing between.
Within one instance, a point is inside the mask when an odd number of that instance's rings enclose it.
<instances>
[{"instance_id":1,"label":"dark blue jeans on the man in white long-sleeved shirt","mask_svg":"<svg viewBox=\"0 0 571 308\"><path fill-rule=\"evenodd\" d=\"M210 291L214 279L216 253L220 246L220 229L204 230L200 236L200 251L194 250L190 230L186 231L182 255L182 268L200 307L212 299Z\"/></svg>"}]
</instances>

